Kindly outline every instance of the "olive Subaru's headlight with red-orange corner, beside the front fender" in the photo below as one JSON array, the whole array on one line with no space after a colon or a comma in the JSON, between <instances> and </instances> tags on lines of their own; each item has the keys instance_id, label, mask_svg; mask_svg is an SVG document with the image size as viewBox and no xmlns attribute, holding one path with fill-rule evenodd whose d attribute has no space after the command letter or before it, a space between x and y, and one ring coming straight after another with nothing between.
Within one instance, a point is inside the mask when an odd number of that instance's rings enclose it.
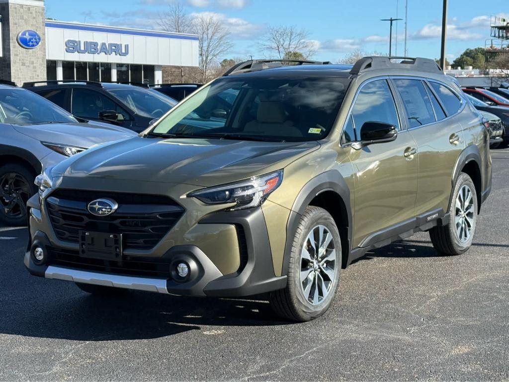
<instances>
[{"instance_id":1,"label":"olive Subaru's headlight with red-orange corner, beside the front fender","mask_svg":"<svg viewBox=\"0 0 509 382\"><path fill-rule=\"evenodd\" d=\"M206 204L236 203L230 210L257 207L272 193L283 179L283 171L256 176L237 183L205 188L188 196Z\"/></svg>"}]
</instances>

